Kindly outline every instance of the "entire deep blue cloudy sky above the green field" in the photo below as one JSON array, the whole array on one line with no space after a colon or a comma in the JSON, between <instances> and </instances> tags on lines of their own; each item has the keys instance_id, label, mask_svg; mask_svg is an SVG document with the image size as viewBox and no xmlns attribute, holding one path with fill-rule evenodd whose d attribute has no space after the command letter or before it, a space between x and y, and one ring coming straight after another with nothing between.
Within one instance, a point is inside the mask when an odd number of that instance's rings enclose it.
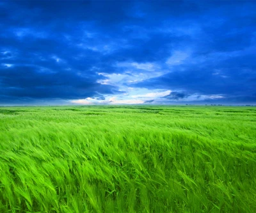
<instances>
[{"instance_id":1,"label":"entire deep blue cloudy sky above the green field","mask_svg":"<svg viewBox=\"0 0 256 213\"><path fill-rule=\"evenodd\" d=\"M256 1L0 1L0 105L256 104Z\"/></svg>"}]
</instances>

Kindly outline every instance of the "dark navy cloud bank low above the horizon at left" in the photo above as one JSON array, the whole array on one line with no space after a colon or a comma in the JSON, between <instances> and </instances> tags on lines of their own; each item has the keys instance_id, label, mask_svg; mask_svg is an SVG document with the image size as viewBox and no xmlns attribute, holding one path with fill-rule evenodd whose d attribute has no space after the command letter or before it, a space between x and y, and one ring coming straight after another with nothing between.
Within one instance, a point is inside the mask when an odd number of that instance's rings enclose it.
<instances>
[{"instance_id":1,"label":"dark navy cloud bank low above the horizon at left","mask_svg":"<svg viewBox=\"0 0 256 213\"><path fill-rule=\"evenodd\" d=\"M96 82L98 75L80 75L61 68L45 72L40 67L9 67L0 70L1 94L10 99L85 99L111 94L115 87Z\"/></svg>"}]
</instances>

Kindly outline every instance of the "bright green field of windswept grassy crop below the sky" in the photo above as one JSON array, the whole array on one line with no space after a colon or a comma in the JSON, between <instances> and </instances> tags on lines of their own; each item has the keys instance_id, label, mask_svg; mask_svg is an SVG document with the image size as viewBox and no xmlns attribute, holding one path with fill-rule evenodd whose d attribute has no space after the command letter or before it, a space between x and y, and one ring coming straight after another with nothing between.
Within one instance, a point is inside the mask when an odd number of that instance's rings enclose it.
<instances>
[{"instance_id":1,"label":"bright green field of windswept grassy crop below the sky","mask_svg":"<svg viewBox=\"0 0 256 213\"><path fill-rule=\"evenodd\" d=\"M0 107L0 212L256 212L256 107Z\"/></svg>"}]
</instances>

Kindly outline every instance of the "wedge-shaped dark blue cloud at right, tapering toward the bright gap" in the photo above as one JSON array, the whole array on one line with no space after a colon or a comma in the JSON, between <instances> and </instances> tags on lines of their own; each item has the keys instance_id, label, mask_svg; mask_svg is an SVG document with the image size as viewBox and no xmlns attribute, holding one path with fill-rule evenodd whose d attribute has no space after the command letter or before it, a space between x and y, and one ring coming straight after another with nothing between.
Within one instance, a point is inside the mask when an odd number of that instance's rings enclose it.
<instances>
[{"instance_id":1,"label":"wedge-shaped dark blue cloud at right, tapering toward the bright gap","mask_svg":"<svg viewBox=\"0 0 256 213\"><path fill-rule=\"evenodd\" d=\"M224 56L223 56L224 57ZM189 63L170 72L136 84L138 87L183 90L189 94L221 94L228 99L255 95L255 55L228 57L224 61L206 60L200 65ZM172 97L172 93L171 93ZM230 99L231 100L231 99ZM240 100L240 98L239 98Z\"/></svg>"}]
</instances>

